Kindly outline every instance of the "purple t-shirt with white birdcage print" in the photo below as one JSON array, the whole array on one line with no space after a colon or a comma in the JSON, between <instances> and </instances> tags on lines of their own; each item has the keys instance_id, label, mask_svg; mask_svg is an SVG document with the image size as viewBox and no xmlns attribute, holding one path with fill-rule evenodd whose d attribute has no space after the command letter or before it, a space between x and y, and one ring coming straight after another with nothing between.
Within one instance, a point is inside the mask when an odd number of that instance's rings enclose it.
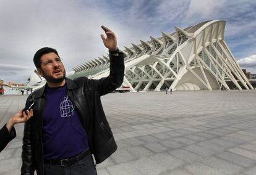
<instances>
[{"instance_id":1,"label":"purple t-shirt with white birdcage print","mask_svg":"<svg viewBox=\"0 0 256 175\"><path fill-rule=\"evenodd\" d=\"M66 89L66 84L58 88L46 85L45 88L43 154L48 160L72 158L88 149L87 134Z\"/></svg>"}]
</instances>

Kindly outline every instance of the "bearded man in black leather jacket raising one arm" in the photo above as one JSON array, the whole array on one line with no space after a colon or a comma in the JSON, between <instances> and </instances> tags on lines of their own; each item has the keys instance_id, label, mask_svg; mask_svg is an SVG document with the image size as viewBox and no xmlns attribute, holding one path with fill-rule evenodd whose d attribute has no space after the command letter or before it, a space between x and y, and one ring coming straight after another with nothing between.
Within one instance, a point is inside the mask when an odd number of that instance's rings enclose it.
<instances>
[{"instance_id":1,"label":"bearded man in black leather jacket raising one arm","mask_svg":"<svg viewBox=\"0 0 256 175\"><path fill-rule=\"evenodd\" d=\"M64 65L55 49L44 47L34 63L47 83L28 100L35 101L32 120L25 123L22 174L96 174L101 163L117 149L100 96L121 86L124 55L117 49L113 31L101 26L109 49L109 76L101 79L66 78Z\"/></svg>"}]
</instances>

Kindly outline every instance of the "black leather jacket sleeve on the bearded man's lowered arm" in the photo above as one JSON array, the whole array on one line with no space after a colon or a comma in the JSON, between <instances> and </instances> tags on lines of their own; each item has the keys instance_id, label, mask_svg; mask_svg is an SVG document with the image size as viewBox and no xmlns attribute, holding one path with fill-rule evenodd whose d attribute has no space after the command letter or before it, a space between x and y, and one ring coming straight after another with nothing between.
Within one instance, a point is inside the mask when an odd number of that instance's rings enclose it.
<instances>
[{"instance_id":1,"label":"black leather jacket sleeve on the bearded man's lowered arm","mask_svg":"<svg viewBox=\"0 0 256 175\"><path fill-rule=\"evenodd\" d=\"M29 99L29 97L28 97ZM28 99L26 105L28 103ZM22 145L22 175L31 175L34 174L35 166L33 165L33 144L32 144L32 119L28 120L24 124L24 133L23 133L23 145Z\"/></svg>"}]
</instances>

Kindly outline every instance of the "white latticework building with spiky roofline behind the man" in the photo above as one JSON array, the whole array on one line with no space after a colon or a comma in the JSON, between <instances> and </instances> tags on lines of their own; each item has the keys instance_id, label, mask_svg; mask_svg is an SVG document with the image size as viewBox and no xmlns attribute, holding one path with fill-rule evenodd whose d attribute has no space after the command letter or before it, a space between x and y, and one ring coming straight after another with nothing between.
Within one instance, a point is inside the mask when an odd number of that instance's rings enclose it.
<instances>
[{"instance_id":1,"label":"white latticework building with spiky roofline behind the man","mask_svg":"<svg viewBox=\"0 0 256 175\"><path fill-rule=\"evenodd\" d=\"M212 20L162 32L160 38L125 47L122 86L132 91L254 89L224 41L224 20ZM74 75L101 78L109 74L109 57L103 55L74 68Z\"/></svg>"}]
</instances>

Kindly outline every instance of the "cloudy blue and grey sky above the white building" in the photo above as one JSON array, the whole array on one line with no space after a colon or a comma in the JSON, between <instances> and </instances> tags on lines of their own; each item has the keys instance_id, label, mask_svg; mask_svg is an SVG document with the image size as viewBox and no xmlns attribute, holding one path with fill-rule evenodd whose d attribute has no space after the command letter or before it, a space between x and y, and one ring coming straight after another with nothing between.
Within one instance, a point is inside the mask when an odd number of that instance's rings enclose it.
<instances>
[{"instance_id":1,"label":"cloudy blue and grey sky above the white building","mask_svg":"<svg viewBox=\"0 0 256 175\"><path fill-rule=\"evenodd\" d=\"M226 43L241 68L256 73L256 0L0 0L0 79L27 83L45 46L58 50L67 73L107 54L101 25L124 49L205 20L226 20Z\"/></svg>"}]
</instances>

